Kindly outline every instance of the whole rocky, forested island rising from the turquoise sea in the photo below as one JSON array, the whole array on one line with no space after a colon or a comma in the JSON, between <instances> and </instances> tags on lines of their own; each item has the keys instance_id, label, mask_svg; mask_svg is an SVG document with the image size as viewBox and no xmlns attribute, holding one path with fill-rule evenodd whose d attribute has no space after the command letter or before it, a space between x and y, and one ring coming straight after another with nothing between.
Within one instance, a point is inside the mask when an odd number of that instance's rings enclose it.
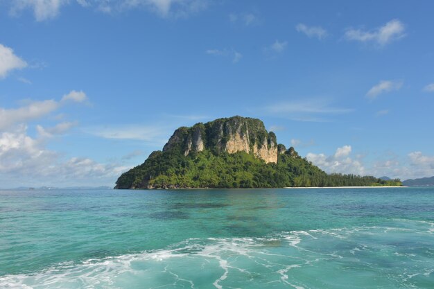
<instances>
[{"instance_id":1,"label":"whole rocky, forested island rising from the turquoise sea","mask_svg":"<svg viewBox=\"0 0 434 289\"><path fill-rule=\"evenodd\" d=\"M401 186L399 179L327 174L277 143L259 119L233 116L178 128L163 150L123 173L114 189Z\"/></svg>"}]
</instances>

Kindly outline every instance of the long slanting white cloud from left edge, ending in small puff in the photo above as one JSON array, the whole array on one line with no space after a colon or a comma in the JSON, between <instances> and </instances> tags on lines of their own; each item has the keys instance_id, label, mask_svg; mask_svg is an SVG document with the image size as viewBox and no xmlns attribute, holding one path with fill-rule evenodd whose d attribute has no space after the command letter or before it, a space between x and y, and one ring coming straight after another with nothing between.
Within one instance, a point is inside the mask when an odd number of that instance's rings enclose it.
<instances>
[{"instance_id":1,"label":"long slanting white cloud from left edge, ending in small puff","mask_svg":"<svg viewBox=\"0 0 434 289\"><path fill-rule=\"evenodd\" d=\"M7 130L13 125L39 119L58 110L61 105L69 100L80 103L86 99L86 94L83 91L71 91L69 94L64 95L60 102L51 99L33 101L19 108L5 109L0 107L0 130Z\"/></svg>"}]
</instances>

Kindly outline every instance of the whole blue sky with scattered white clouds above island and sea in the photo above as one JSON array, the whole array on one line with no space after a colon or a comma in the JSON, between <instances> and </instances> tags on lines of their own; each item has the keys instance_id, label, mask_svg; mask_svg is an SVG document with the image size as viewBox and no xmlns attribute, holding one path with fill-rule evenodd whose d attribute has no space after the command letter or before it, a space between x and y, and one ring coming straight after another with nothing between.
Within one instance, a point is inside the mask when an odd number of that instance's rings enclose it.
<instances>
[{"instance_id":1,"label":"whole blue sky with scattered white clouds above island and sea","mask_svg":"<svg viewBox=\"0 0 434 289\"><path fill-rule=\"evenodd\" d=\"M234 115L328 173L431 177L433 11L0 0L0 187L114 186L176 128Z\"/></svg>"}]
</instances>

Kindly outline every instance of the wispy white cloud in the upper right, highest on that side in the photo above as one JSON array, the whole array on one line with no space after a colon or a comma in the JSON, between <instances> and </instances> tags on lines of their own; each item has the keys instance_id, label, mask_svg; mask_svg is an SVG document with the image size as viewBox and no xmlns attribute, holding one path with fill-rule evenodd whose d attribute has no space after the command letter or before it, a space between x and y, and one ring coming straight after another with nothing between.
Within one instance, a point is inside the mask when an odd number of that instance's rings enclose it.
<instances>
[{"instance_id":1,"label":"wispy white cloud in the upper right, highest on that side","mask_svg":"<svg viewBox=\"0 0 434 289\"><path fill-rule=\"evenodd\" d=\"M358 42L374 42L379 46L385 46L394 40L399 40L406 34L405 27L398 19L389 21L384 26L371 31L350 28L345 33L347 40Z\"/></svg>"}]
</instances>

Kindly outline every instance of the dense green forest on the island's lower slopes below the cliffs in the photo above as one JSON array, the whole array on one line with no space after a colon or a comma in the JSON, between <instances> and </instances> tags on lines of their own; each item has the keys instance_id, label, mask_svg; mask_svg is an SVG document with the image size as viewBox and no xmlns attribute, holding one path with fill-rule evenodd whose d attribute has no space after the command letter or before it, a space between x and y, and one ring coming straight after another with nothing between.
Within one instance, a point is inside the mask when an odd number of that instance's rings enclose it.
<instances>
[{"instance_id":1,"label":"dense green forest on the island's lower slopes below the cliffs","mask_svg":"<svg viewBox=\"0 0 434 289\"><path fill-rule=\"evenodd\" d=\"M117 189L146 188L271 188L287 186L385 186L401 185L399 179L383 181L357 175L327 175L298 156L293 148L280 154L277 164L266 164L246 152L193 152L180 149L153 152L135 168L123 173Z\"/></svg>"}]
</instances>

